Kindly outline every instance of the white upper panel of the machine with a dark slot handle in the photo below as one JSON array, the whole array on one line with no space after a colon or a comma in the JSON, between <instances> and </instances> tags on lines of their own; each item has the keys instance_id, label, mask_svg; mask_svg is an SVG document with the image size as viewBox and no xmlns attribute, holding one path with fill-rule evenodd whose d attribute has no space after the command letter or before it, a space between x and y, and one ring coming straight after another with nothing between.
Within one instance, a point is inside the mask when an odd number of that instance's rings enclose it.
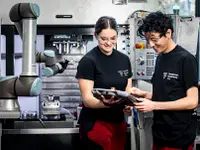
<instances>
[{"instance_id":1,"label":"white upper panel of the machine with a dark slot handle","mask_svg":"<svg viewBox=\"0 0 200 150\"><path fill-rule=\"evenodd\" d=\"M119 24L123 24L135 10L158 9L158 0L128 5L113 5L112 0L1 0L0 16L3 17L3 24L11 23L9 11L13 5L20 2L37 3L40 6L38 24L95 24L102 15L113 16ZM56 19L57 14L72 14L73 18Z\"/></svg>"}]
</instances>

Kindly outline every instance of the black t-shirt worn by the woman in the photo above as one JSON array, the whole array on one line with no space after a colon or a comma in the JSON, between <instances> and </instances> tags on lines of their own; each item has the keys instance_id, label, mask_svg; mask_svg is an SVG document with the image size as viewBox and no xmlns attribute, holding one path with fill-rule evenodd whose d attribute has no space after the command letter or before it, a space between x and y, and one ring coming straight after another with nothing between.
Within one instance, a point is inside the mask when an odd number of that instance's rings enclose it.
<instances>
[{"instance_id":1,"label":"black t-shirt worn by the woman","mask_svg":"<svg viewBox=\"0 0 200 150\"><path fill-rule=\"evenodd\" d=\"M113 49L110 56L103 54L99 47L88 52L79 62L76 78L94 81L94 88L112 87L117 90L125 90L128 78L132 77L129 57ZM80 121L87 124L95 120L119 123L124 121L124 105L119 104L112 108L91 109L83 107ZM92 125L91 125L92 127Z\"/></svg>"}]
</instances>

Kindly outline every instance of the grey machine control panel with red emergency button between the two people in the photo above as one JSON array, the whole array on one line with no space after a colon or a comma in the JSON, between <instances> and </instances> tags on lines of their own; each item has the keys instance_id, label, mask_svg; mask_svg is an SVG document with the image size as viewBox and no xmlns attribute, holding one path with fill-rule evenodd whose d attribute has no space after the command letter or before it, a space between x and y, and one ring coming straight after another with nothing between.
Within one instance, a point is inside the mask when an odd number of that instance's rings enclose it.
<instances>
[{"instance_id":1,"label":"grey machine control panel with red emergency button between the two people","mask_svg":"<svg viewBox=\"0 0 200 150\"><path fill-rule=\"evenodd\" d=\"M150 80L154 73L157 53L147 43L145 38L138 36L138 27L149 12L136 11L128 19L130 27L130 46L133 79Z\"/></svg>"}]
</instances>

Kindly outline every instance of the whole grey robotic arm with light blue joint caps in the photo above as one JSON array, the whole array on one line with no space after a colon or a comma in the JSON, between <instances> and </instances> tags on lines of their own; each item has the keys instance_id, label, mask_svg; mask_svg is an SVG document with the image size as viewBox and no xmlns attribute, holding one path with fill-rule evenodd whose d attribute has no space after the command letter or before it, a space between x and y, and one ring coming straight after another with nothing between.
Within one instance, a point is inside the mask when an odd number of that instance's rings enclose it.
<instances>
[{"instance_id":1,"label":"whole grey robotic arm with light blue joint caps","mask_svg":"<svg viewBox=\"0 0 200 150\"><path fill-rule=\"evenodd\" d=\"M10 10L10 19L23 41L22 73L18 76L0 77L0 118L19 118L18 96L38 96L42 81L36 73L36 63L45 63L43 74L53 76L62 73L68 60L56 62L54 51L36 52L37 4L18 3Z\"/></svg>"}]
</instances>

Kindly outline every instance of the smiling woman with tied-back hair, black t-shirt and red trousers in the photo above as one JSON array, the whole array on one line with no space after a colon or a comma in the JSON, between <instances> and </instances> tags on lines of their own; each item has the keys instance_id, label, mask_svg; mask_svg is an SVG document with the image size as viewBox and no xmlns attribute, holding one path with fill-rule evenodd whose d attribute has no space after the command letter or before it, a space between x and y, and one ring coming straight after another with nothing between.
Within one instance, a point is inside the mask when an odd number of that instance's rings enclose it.
<instances>
[{"instance_id":1,"label":"smiling woman with tied-back hair, black t-shirt and red trousers","mask_svg":"<svg viewBox=\"0 0 200 150\"><path fill-rule=\"evenodd\" d=\"M95 25L98 46L79 62L76 78L83 99L80 113L80 135L87 150L124 150L126 122L124 113L131 115L131 107L117 101L102 101L92 94L93 88L115 88L128 91L132 87L132 71L128 56L114 49L117 43L117 23L104 16ZM107 104L115 104L108 106Z\"/></svg>"}]
</instances>

